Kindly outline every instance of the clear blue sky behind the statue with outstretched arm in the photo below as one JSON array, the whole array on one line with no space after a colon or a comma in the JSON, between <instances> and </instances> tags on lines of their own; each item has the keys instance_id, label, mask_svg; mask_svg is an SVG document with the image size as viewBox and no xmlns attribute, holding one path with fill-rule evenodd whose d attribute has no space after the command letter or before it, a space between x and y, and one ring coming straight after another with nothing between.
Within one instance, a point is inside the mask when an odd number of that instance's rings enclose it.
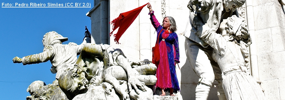
<instances>
[{"instance_id":1,"label":"clear blue sky behind the statue with outstretched arm","mask_svg":"<svg viewBox=\"0 0 285 100\"><path fill-rule=\"evenodd\" d=\"M0 0L2 3L90 3L93 0ZM5 6L5 5L4 5ZM0 8L0 98L1 100L25 100L30 94L28 86L36 80L46 84L55 80L50 72L50 61L23 65L13 63L15 56L20 58L41 53L42 37L49 31L56 31L69 42L82 43L85 26L91 32L91 20L86 13L91 8ZM91 32L92 33L92 32Z\"/></svg>"}]
</instances>

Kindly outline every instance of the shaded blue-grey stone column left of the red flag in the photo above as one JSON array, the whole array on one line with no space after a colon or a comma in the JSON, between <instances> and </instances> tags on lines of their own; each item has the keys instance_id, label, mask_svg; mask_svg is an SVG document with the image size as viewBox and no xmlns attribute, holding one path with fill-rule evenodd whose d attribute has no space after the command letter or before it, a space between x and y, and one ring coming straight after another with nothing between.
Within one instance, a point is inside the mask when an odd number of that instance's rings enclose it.
<instances>
[{"instance_id":1,"label":"shaded blue-grey stone column left of the red flag","mask_svg":"<svg viewBox=\"0 0 285 100\"><path fill-rule=\"evenodd\" d=\"M101 8L101 43L108 44L109 43L109 33L108 33L108 9L109 9L109 0L100 0L100 8Z\"/></svg>"}]
</instances>

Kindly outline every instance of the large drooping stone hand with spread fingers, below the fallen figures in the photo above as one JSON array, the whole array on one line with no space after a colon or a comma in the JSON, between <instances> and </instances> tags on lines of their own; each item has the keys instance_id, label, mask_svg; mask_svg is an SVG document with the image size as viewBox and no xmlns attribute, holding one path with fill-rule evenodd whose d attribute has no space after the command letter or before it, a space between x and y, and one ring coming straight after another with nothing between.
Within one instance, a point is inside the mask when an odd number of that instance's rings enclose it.
<instances>
[{"instance_id":1,"label":"large drooping stone hand with spread fingers, below the fallen figures","mask_svg":"<svg viewBox=\"0 0 285 100\"><path fill-rule=\"evenodd\" d=\"M142 91L146 91L146 86L144 85L144 82L139 81L137 78L129 78L129 90L131 90L131 86L134 87L137 94L139 93L138 87L141 88ZM138 86L138 87L137 87Z\"/></svg>"}]
</instances>

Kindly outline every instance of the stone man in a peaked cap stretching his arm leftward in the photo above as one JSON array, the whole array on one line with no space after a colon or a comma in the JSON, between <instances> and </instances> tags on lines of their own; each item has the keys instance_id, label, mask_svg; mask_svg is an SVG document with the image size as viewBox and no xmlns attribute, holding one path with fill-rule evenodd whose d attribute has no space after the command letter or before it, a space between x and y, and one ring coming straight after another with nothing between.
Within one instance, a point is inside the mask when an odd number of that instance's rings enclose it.
<instances>
[{"instance_id":1,"label":"stone man in a peaked cap stretching his arm leftward","mask_svg":"<svg viewBox=\"0 0 285 100\"><path fill-rule=\"evenodd\" d=\"M87 33L90 36L90 33ZM90 39L90 37L84 37L85 42ZM42 44L44 45L44 50L42 53L28 55L23 58L14 57L13 63L23 63L36 64L49 61L52 63L52 73L56 72L56 79L59 78L60 74L64 72L65 69L71 68L77 61L77 55L80 54L84 43L77 45L76 43L68 43L68 45L62 44L62 42L67 41L67 37L62 37L62 35L56 33L55 31L48 32L44 35L42 39Z\"/></svg>"}]
</instances>

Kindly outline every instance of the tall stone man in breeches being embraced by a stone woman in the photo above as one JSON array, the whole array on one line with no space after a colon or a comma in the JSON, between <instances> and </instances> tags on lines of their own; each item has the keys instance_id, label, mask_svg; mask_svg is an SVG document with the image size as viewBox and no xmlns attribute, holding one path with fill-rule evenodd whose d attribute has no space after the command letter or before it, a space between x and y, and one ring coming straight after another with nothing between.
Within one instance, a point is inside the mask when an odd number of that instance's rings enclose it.
<instances>
[{"instance_id":1,"label":"tall stone man in breeches being embraced by a stone woman","mask_svg":"<svg viewBox=\"0 0 285 100\"><path fill-rule=\"evenodd\" d=\"M196 100L207 100L214 80L218 81L219 99L226 100L221 86L221 69L211 57L213 48L196 34L208 29L214 29L216 32L220 21L237 15L236 8L244 3L245 0L190 0L188 4L190 16L184 32L185 50L192 68L200 77L196 87ZM206 23L209 28L202 28Z\"/></svg>"}]
</instances>

